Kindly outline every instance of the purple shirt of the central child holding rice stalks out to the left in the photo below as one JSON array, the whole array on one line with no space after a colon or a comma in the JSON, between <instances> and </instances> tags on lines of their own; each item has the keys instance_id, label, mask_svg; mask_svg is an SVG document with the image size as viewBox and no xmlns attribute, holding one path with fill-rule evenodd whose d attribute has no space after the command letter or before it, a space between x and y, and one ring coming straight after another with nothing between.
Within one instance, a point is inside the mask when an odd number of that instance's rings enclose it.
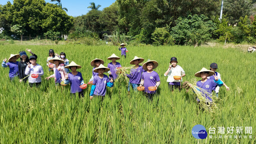
<instances>
[{"instance_id":1,"label":"purple shirt of the central child holding rice stalks out to the left","mask_svg":"<svg viewBox=\"0 0 256 144\"><path fill-rule=\"evenodd\" d=\"M131 68L130 74L126 74L129 78L130 83L139 84L141 79L141 73L145 70L139 65L137 68Z\"/></svg>"}]
</instances>

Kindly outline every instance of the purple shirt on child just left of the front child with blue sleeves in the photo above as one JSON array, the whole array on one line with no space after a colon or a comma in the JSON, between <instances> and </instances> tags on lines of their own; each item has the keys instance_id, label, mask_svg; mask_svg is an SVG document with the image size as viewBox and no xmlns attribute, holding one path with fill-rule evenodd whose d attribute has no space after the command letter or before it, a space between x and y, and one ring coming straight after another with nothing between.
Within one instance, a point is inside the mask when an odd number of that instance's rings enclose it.
<instances>
[{"instance_id":1,"label":"purple shirt on child just left of the front child with blue sleeves","mask_svg":"<svg viewBox=\"0 0 256 144\"><path fill-rule=\"evenodd\" d=\"M68 73L68 81L70 83L71 93L82 91L82 89L79 87L81 85L81 80L83 80L81 72L78 72L76 75L73 75L71 72Z\"/></svg>"}]
</instances>

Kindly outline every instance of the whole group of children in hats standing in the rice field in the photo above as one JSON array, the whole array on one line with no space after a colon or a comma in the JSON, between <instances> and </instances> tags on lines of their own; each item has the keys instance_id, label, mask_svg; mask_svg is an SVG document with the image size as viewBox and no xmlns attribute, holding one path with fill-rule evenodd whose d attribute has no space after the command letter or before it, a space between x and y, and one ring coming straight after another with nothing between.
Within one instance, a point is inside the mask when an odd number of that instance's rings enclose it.
<instances>
[{"instance_id":1,"label":"whole group of children in hats standing in the rice field","mask_svg":"<svg viewBox=\"0 0 256 144\"><path fill-rule=\"evenodd\" d=\"M124 47L125 44L121 43L121 48L118 47L121 51L121 55L124 55L126 58L125 51L127 50ZM6 58L3 59L2 67L9 67L9 77L13 79L14 76L19 75L19 81L26 82L28 79L30 86L38 86L41 83L41 75L43 74L42 66L36 63L37 55L34 54L30 49L26 49L32 55L27 56L25 51L20 51L19 54L11 54L8 58L8 62L6 63ZM20 61L16 60L20 58ZM111 60L105 67L104 61L99 58L95 58L90 62L92 68L92 76L89 82L92 84L90 91L90 99L93 97L104 98L106 94L106 86L112 87L113 81L118 77L116 73L117 68L121 67L119 62L116 60L120 59L120 57L116 56L114 53L107 58ZM160 85L160 78L155 69L158 66L158 62L155 60L148 60L144 62L142 65L139 65L144 59L141 57L134 56L134 58L130 61L131 65L134 65L129 74L126 76L129 78L128 83L128 91L130 91L130 86L134 91L137 90L137 86L144 86L144 93L148 99L152 99L153 95L156 93L157 87ZM169 67L164 73L164 76L167 77L168 87L171 91L174 88L177 88L180 91L180 84L182 81L182 77L185 76L185 71L179 65L177 65L178 61L176 57L171 57L169 61ZM47 63L49 71L53 71L53 74L46 77L45 79L53 78L55 79L55 84L59 85L64 83L70 83L70 93L73 95L78 93L79 97L83 97L83 90L80 88L80 85L84 84L82 74L76 69L81 68L80 65L75 62L71 62L69 64L69 60L66 59L66 55L64 52L61 52L60 55L54 53L53 49L49 50L49 56L47 57ZM69 72L69 69L71 72ZM216 63L210 64L210 70L206 68L202 68L200 71L195 73L196 77L201 77L202 79L197 81L196 85L207 90L209 93L212 91L216 92L216 96L218 96L219 86L222 84L229 90L229 87L226 86L224 82L221 81L220 74L215 72L217 69ZM109 77L104 74L104 72L108 72ZM32 77L31 75L35 75ZM180 76L180 80L176 80L173 76ZM153 90L149 87L153 87ZM212 100L208 95L204 95L205 98Z\"/></svg>"}]
</instances>

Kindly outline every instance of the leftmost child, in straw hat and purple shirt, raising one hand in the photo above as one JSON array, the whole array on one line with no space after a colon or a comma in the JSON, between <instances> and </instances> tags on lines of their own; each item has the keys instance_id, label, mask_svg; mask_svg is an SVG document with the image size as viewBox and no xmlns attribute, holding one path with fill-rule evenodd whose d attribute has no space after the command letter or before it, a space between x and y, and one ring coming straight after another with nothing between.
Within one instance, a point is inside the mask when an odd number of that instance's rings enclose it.
<instances>
[{"instance_id":1,"label":"leftmost child, in straw hat and purple shirt, raising one hand","mask_svg":"<svg viewBox=\"0 0 256 144\"><path fill-rule=\"evenodd\" d=\"M10 54L8 61L6 63L6 58L2 61L2 67L9 67L9 78L12 80L15 76L18 75L18 61L19 54Z\"/></svg>"}]
</instances>

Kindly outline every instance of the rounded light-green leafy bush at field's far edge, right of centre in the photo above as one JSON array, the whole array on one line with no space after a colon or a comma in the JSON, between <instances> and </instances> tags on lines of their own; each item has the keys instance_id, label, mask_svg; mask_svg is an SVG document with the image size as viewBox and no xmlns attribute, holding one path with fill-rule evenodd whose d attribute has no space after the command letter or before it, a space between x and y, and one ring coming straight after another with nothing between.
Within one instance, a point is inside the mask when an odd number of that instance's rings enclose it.
<instances>
[{"instance_id":1,"label":"rounded light-green leafy bush at field's far edge, right of centre","mask_svg":"<svg viewBox=\"0 0 256 144\"><path fill-rule=\"evenodd\" d=\"M176 26L171 28L171 35L175 44L200 45L210 39L215 30L215 23L204 15L188 15L187 18L178 17Z\"/></svg>"}]
</instances>

